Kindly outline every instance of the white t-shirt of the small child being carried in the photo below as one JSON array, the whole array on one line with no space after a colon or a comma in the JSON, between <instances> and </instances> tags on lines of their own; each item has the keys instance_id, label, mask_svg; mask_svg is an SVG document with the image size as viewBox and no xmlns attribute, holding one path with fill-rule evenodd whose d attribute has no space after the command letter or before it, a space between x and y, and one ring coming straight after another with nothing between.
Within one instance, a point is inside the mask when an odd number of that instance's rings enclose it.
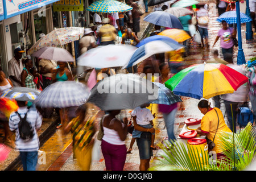
<instances>
[{"instance_id":1,"label":"white t-shirt of the small child being carried","mask_svg":"<svg viewBox=\"0 0 256 182\"><path fill-rule=\"evenodd\" d=\"M136 121L138 125L148 125L150 121L154 119L154 116L151 114L151 111L146 107L136 107L132 112L131 116L136 116Z\"/></svg>"}]
</instances>

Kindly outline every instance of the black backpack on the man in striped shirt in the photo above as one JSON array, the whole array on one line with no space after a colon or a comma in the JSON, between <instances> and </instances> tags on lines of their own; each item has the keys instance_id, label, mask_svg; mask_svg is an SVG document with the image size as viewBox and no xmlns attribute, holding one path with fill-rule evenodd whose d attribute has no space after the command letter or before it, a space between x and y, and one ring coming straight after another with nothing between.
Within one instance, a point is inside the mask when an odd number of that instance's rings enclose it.
<instances>
[{"instance_id":1,"label":"black backpack on the man in striped shirt","mask_svg":"<svg viewBox=\"0 0 256 182\"><path fill-rule=\"evenodd\" d=\"M17 111L15 113L18 114L20 118L20 121L18 124L20 138L23 140L30 140L32 137L34 137L34 129L30 125L30 123L27 122L28 111L25 114L24 118L20 117L20 114Z\"/></svg>"}]
</instances>

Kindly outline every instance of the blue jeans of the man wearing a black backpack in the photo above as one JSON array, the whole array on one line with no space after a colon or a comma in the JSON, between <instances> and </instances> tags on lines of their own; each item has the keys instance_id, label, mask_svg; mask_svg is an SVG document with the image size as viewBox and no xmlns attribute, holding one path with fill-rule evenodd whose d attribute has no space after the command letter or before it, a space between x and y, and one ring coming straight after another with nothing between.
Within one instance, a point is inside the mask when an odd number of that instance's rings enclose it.
<instances>
[{"instance_id":1,"label":"blue jeans of the man wearing a black backpack","mask_svg":"<svg viewBox=\"0 0 256 182\"><path fill-rule=\"evenodd\" d=\"M23 171L35 171L38 163L38 151L19 152L22 160Z\"/></svg>"}]
</instances>

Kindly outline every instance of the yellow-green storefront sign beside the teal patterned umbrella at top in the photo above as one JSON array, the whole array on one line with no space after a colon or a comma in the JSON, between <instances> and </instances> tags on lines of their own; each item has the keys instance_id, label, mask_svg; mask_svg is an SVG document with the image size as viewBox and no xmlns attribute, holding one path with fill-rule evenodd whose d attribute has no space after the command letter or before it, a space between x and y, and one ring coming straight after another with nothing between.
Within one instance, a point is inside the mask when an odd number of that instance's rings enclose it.
<instances>
[{"instance_id":1,"label":"yellow-green storefront sign beside the teal patterned umbrella at top","mask_svg":"<svg viewBox=\"0 0 256 182\"><path fill-rule=\"evenodd\" d=\"M53 3L53 11L84 11L82 0L60 0Z\"/></svg>"}]
</instances>

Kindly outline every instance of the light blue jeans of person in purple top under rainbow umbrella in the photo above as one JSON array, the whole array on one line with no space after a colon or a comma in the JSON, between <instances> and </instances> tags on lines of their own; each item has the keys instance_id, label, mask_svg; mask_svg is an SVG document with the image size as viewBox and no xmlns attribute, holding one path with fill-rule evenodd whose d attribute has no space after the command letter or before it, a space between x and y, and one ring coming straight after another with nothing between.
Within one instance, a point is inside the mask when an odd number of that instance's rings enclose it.
<instances>
[{"instance_id":1,"label":"light blue jeans of person in purple top under rainbow umbrella","mask_svg":"<svg viewBox=\"0 0 256 182\"><path fill-rule=\"evenodd\" d=\"M164 118L164 122L166 123L169 142L171 142L171 139L176 140L176 137L174 134L174 122L175 122L176 113L177 113L177 108L172 110L170 113L163 113L163 118Z\"/></svg>"}]
</instances>

